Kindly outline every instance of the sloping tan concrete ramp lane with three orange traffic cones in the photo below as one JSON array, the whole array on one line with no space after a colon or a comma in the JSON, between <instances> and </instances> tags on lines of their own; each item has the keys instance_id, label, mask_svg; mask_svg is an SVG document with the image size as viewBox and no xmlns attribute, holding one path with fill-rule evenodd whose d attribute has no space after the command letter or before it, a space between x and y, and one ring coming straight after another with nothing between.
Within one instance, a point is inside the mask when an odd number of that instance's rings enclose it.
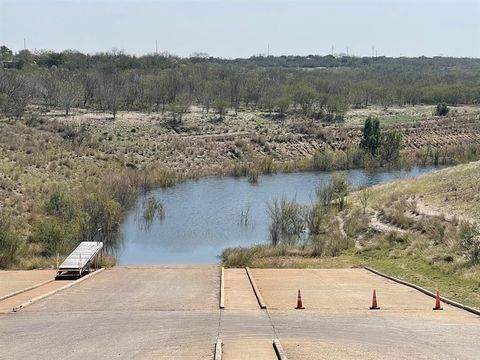
<instances>
[{"instance_id":1,"label":"sloping tan concrete ramp lane with three orange traffic cones","mask_svg":"<svg viewBox=\"0 0 480 360\"><path fill-rule=\"evenodd\" d=\"M382 313L459 321L474 318L448 305L443 305L444 311L433 312L431 297L364 269L252 269L252 273L269 309L292 310L301 289L307 310L369 313L376 289Z\"/></svg>"}]
</instances>

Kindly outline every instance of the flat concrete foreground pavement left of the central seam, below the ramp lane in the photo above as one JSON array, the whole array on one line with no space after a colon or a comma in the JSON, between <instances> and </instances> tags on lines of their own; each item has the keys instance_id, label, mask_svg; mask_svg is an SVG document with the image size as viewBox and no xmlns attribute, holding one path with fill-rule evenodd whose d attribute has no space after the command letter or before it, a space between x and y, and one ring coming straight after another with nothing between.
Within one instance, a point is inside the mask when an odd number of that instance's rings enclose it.
<instances>
[{"instance_id":1,"label":"flat concrete foreground pavement left of the central seam, below the ramp lane","mask_svg":"<svg viewBox=\"0 0 480 360\"><path fill-rule=\"evenodd\" d=\"M4 314L0 359L211 360L218 321L218 310Z\"/></svg>"}]
</instances>

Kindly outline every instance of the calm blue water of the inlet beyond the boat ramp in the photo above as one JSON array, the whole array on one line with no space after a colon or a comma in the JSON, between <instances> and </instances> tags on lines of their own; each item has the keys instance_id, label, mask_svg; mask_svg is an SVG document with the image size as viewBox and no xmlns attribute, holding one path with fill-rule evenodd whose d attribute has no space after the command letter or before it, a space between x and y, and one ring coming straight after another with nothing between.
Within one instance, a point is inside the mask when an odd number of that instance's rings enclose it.
<instances>
[{"instance_id":1,"label":"calm blue water of the inlet beyond the boat ramp","mask_svg":"<svg viewBox=\"0 0 480 360\"><path fill-rule=\"evenodd\" d=\"M349 170L353 187L409 178L434 170L415 167L399 171ZM246 178L208 177L152 191L165 206L163 221L155 219L148 229L142 221L143 196L122 225L121 265L216 263L226 247L268 242L267 205L286 197L311 204L316 186L331 173L291 173L259 177L257 185ZM240 223L249 209L250 224ZM140 220L139 220L140 219Z\"/></svg>"}]
</instances>

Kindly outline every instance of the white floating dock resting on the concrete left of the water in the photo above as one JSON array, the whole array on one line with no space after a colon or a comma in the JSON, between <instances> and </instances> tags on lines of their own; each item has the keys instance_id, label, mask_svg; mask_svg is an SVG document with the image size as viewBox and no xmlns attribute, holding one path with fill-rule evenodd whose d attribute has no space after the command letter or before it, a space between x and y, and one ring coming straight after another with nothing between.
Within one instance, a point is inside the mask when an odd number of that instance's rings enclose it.
<instances>
[{"instance_id":1,"label":"white floating dock resting on the concrete left of the water","mask_svg":"<svg viewBox=\"0 0 480 360\"><path fill-rule=\"evenodd\" d=\"M82 241L58 267L57 276L66 272L76 272L80 276L86 272L103 248L103 242Z\"/></svg>"}]
</instances>

